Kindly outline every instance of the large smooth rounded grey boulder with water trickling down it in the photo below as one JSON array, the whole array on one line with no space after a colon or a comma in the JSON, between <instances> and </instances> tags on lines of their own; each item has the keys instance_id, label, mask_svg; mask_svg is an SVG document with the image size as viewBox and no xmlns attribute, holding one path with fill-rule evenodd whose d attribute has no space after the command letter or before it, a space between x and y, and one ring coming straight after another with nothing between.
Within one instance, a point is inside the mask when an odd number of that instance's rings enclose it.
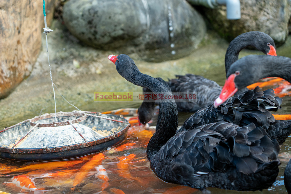
<instances>
[{"instance_id":1,"label":"large smooth rounded grey boulder with water trickling down it","mask_svg":"<svg viewBox=\"0 0 291 194\"><path fill-rule=\"evenodd\" d=\"M185 0L70 0L63 19L88 45L152 61L189 54L206 31L203 18Z\"/></svg>"}]
</instances>

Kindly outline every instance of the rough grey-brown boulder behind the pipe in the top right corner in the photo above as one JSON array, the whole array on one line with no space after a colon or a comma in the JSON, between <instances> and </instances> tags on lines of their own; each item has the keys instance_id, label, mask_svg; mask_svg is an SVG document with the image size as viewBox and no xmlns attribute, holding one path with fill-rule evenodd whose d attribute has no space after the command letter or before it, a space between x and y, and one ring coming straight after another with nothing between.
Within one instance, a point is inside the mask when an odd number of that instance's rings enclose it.
<instances>
[{"instance_id":1,"label":"rough grey-brown boulder behind the pipe in the top right corner","mask_svg":"<svg viewBox=\"0 0 291 194\"><path fill-rule=\"evenodd\" d=\"M226 19L226 6L217 9L205 8L213 28L227 40L248 31L269 34L276 45L283 44L288 35L291 15L290 0L240 0L241 19Z\"/></svg>"}]
</instances>

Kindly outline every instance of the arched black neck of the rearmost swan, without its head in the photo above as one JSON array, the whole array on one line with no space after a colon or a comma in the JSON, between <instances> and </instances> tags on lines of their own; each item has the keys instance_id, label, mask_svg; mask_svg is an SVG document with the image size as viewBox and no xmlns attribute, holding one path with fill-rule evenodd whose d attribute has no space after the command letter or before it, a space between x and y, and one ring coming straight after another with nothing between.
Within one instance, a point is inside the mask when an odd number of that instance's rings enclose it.
<instances>
[{"instance_id":1,"label":"arched black neck of the rearmost swan, without its head","mask_svg":"<svg viewBox=\"0 0 291 194\"><path fill-rule=\"evenodd\" d=\"M239 52L246 48L246 47L255 47L256 46L256 40L259 32L248 32L243 33L239 36L237 36L235 39L233 39L226 50L225 54L225 72L227 74L227 71L231 64L233 64L235 61L238 60ZM259 48L257 48L259 49Z\"/></svg>"}]
</instances>

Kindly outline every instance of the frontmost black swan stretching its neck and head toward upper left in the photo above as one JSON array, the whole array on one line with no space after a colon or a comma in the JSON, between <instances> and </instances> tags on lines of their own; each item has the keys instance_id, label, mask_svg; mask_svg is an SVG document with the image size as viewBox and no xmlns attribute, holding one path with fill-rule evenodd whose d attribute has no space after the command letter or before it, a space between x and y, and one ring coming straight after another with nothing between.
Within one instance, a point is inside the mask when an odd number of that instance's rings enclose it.
<instances>
[{"instance_id":1,"label":"frontmost black swan stretching its neck and head toward upper left","mask_svg":"<svg viewBox=\"0 0 291 194\"><path fill-rule=\"evenodd\" d=\"M162 82L142 74L129 56L110 55L109 59L127 81L171 95ZM239 191L262 190L276 180L279 145L261 127L217 122L176 133L176 103L167 99L159 106L159 127L147 147L150 166L159 178L200 190Z\"/></svg>"}]
</instances>

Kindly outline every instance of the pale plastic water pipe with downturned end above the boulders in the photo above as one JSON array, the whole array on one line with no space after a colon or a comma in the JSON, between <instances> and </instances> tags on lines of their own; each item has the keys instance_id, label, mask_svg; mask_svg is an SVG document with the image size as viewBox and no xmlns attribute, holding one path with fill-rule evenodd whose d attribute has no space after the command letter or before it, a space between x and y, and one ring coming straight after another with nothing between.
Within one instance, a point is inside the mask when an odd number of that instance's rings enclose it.
<instances>
[{"instance_id":1,"label":"pale plastic water pipe with downturned end above the boulders","mask_svg":"<svg viewBox=\"0 0 291 194\"><path fill-rule=\"evenodd\" d=\"M220 5L226 5L227 19L240 19L239 0L187 0L193 5L202 5L209 8L216 8Z\"/></svg>"}]
</instances>

